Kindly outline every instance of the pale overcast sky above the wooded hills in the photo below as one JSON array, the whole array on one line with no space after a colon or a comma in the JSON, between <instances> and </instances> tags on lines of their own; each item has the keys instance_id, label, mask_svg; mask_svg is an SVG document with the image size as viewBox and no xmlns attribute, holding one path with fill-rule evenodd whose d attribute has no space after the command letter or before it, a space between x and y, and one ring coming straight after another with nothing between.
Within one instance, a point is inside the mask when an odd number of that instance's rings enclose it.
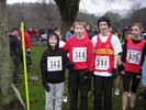
<instances>
[{"instance_id":1,"label":"pale overcast sky above the wooded hills","mask_svg":"<svg viewBox=\"0 0 146 110\"><path fill-rule=\"evenodd\" d=\"M30 1L35 2L37 0L7 0L8 3ZM142 2L142 6L146 7L145 0L114 0L113 2L105 1L106 0L80 0L79 9L88 13L101 14L110 10L128 10L134 1Z\"/></svg>"}]
</instances>

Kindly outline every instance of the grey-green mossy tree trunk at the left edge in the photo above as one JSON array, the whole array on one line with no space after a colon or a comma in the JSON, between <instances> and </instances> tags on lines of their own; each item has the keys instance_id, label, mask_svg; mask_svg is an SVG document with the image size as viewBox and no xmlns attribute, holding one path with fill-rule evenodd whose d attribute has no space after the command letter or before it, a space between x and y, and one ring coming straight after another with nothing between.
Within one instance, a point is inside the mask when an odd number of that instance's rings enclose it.
<instances>
[{"instance_id":1,"label":"grey-green mossy tree trunk at the left edge","mask_svg":"<svg viewBox=\"0 0 146 110\"><path fill-rule=\"evenodd\" d=\"M8 37L8 18L7 0L0 0L0 87L2 106L10 105L13 101L13 91L11 89L12 67Z\"/></svg>"}]
</instances>

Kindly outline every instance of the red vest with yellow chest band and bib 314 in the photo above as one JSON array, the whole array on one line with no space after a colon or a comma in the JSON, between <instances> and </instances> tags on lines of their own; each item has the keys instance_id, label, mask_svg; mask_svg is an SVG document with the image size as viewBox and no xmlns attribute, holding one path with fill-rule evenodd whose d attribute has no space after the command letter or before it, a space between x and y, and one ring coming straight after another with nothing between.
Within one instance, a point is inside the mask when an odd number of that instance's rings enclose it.
<instances>
[{"instance_id":1,"label":"red vest with yellow chest band and bib 314","mask_svg":"<svg viewBox=\"0 0 146 110\"><path fill-rule=\"evenodd\" d=\"M114 50L111 44L112 34L108 36L106 42L102 43L100 36L97 36L96 45L96 62L94 70L96 72L108 72L112 73L114 66Z\"/></svg>"}]
</instances>

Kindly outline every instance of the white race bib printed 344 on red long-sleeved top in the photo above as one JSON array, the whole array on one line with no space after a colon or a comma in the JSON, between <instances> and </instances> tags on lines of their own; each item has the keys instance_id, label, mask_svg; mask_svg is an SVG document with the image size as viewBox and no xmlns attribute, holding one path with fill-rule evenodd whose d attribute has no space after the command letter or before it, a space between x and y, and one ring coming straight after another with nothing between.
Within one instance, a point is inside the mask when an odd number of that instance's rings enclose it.
<instances>
[{"instance_id":1,"label":"white race bib printed 344 on red long-sleeved top","mask_svg":"<svg viewBox=\"0 0 146 110\"><path fill-rule=\"evenodd\" d=\"M87 62L87 47L74 47L72 61L74 62Z\"/></svg>"}]
</instances>

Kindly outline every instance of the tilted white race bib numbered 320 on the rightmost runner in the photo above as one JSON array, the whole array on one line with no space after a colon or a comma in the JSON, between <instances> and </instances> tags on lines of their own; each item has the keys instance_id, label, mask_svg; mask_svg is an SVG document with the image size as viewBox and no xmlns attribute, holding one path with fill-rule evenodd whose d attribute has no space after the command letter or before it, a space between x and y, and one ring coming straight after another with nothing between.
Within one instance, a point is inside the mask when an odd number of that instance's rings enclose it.
<instances>
[{"instance_id":1,"label":"tilted white race bib numbered 320 on the rightmost runner","mask_svg":"<svg viewBox=\"0 0 146 110\"><path fill-rule=\"evenodd\" d=\"M131 63L131 64L139 64L141 56L142 56L142 52L134 51L134 50L127 50L126 61L127 63Z\"/></svg>"}]
</instances>

